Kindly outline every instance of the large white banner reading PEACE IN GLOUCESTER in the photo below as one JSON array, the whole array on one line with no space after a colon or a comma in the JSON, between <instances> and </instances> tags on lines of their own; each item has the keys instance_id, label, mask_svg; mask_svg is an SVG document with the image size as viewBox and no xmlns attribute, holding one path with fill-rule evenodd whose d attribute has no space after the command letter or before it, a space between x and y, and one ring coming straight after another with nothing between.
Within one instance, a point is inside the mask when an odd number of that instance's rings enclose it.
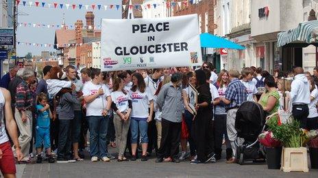
<instances>
[{"instance_id":1,"label":"large white banner reading PEACE IN GLOUCESTER","mask_svg":"<svg viewBox=\"0 0 318 178\"><path fill-rule=\"evenodd\" d=\"M201 65L197 14L101 20L101 70Z\"/></svg>"}]
</instances>

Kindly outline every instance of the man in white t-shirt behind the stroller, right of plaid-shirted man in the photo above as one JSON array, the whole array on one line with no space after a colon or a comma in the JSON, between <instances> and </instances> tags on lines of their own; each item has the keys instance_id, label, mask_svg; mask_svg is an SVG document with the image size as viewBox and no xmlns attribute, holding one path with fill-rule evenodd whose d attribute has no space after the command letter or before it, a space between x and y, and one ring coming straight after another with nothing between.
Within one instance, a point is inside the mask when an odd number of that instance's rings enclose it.
<instances>
[{"instance_id":1,"label":"man in white t-shirt behind the stroller, right of plaid-shirted man","mask_svg":"<svg viewBox=\"0 0 318 178\"><path fill-rule=\"evenodd\" d=\"M256 89L255 83L252 82L254 70L251 68L244 68L241 74L243 76L241 83L243 83L247 91L247 101L257 102L256 93L258 93L258 90Z\"/></svg>"}]
</instances>

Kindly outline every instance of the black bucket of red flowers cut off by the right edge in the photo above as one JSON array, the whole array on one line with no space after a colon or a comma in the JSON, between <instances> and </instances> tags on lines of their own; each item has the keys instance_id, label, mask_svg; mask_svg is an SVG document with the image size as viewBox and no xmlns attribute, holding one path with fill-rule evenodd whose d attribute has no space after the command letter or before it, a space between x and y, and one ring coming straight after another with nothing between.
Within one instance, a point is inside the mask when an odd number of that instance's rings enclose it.
<instances>
[{"instance_id":1,"label":"black bucket of red flowers cut off by the right edge","mask_svg":"<svg viewBox=\"0 0 318 178\"><path fill-rule=\"evenodd\" d=\"M308 132L308 147L311 168L318 168L318 130Z\"/></svg>"}]
</instances>

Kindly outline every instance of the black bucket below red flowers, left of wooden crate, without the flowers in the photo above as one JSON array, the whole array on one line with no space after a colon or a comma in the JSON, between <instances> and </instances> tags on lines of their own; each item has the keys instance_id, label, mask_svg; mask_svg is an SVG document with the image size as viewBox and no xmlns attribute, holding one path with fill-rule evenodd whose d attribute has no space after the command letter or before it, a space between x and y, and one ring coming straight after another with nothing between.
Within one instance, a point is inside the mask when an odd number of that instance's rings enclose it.
<instances>
[{"instance_id":1,"label":"black bucket below red flowers, left of wooden crate, without the flowers","mask_svg":"<svg viewBox=\"0 0 318 178\"><path fill-rule=\"evenodd\" d=\"M266 162L269 169L280 169L282 147L266 148Z\"/></svg>"}]
</instances>

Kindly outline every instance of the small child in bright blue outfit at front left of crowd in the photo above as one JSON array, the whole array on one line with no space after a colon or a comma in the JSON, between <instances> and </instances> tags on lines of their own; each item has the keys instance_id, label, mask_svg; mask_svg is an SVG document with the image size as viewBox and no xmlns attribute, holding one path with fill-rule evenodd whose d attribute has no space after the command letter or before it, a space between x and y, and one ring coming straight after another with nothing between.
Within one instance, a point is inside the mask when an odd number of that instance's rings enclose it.
<instances>
[{"instance_id":1,"label":"small child in bright blue outfit at front left of crowd","mask_svg":"<svg viewBox=\"0 0 318 178\"><path fill-rule=\"evenodd\" d=\"M50 118L53 116L49 109L49 104L47 104L47 95L45 93L38 95L36 114L36 163L42 162L42 143L44 143L44 148L47 149L47 161L53 163L55 160L51 154L50 143Z\"/></svg>"}]
</instances>

